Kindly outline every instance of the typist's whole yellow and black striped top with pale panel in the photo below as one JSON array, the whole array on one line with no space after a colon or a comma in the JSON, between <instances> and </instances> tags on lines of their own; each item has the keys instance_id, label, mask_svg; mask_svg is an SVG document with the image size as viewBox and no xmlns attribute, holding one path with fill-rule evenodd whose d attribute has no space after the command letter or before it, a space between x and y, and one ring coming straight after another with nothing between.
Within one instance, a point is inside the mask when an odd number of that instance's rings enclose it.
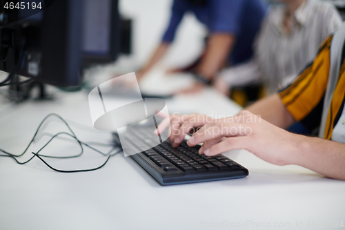
<instances>
[{"instance_id":1,"label":"typist's whole yellow and black striped top with pale panel","mask_svg":"<svg viewBox=\"0 0 345 230\"><path fill-rule=\"evenodd\" d=\"M345 23L320 46L312 64L284 90L283 104L297 122L319 137L345 143Z\"/></svg>"}]
</instances>

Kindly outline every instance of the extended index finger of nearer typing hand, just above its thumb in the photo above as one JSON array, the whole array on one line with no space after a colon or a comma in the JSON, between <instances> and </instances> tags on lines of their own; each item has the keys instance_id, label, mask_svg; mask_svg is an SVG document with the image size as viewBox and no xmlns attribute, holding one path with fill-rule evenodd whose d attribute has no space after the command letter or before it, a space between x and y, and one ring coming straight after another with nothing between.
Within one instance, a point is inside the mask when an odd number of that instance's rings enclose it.
<instances>
[{"instance_id":1,"label":"extended index finger of nearer typing hand, just above its thumb","mask_svg":"<svg viewBox=\"0 0 345 230\"><path fill-rule=\"evenodd\" d=\"M212 140L217 137L234 137L240 135L248 135L252 132L252 124L246 123L216 123L206 129L197 131L190 139L187 144L189 146L195 146L199 143L205 142L206 140Z\"/></svg>"}]
</instances>

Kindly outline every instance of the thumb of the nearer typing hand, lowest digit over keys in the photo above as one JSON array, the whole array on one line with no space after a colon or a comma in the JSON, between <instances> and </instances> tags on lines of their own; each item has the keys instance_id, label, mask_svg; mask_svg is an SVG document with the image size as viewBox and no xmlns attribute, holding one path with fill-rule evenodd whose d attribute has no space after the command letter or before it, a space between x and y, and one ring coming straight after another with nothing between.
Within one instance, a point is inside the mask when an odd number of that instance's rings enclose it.
<instances>
[{"instance_id":1,"label":"thumb of the nearer typing hand, lowest digit over keys","mask_svg":"<svg viewBox=\"0 0 345 230\"><path fill-rule=\"evenodd\" d=\"M204 150L204 154L207 156L214 156L233 149L246 149L249 144L253 144L250 140L250 136L242 137L228 137L226 140L222 140L217 144L213 144L210 148Z\"/></svg>"}]
</instances>

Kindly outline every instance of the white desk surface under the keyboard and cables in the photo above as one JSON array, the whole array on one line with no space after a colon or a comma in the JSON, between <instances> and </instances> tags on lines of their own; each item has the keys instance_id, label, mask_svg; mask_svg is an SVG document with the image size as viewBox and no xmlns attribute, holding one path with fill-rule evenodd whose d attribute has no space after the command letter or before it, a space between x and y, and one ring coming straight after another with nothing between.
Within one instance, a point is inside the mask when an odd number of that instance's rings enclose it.
<instances>
[{"instance_id":1,"label":"white desk surface under the keyboard and cables","mask_svg":"<svg viewBox=\"0 0 345 230\"><path fill-rule=\"evenodd\" d=\"M109 133L90 128L86 93L59 97L12 107L0 104L0 148L21 153L48 113L68 119L83 141L110 142ZM233 115L240 110L213 90L175 97L167 104L170 112L181 113ZM61 127L53 122L45 132L66 130ZM43 137L20 160L47 140ZM42 154L78 152L77 144L55 140ZM57 173L38 159L19 165L1 157L0 229L335 229L336 221L345 224L345 182L299 166L268 164L246 151L225 155L244 165L248 177L160 186L123 155L88 173ZM104 160L86 149L86 155L75 160L47 161L72 170L99 166Z\"/></svg>"}]
</instances>

